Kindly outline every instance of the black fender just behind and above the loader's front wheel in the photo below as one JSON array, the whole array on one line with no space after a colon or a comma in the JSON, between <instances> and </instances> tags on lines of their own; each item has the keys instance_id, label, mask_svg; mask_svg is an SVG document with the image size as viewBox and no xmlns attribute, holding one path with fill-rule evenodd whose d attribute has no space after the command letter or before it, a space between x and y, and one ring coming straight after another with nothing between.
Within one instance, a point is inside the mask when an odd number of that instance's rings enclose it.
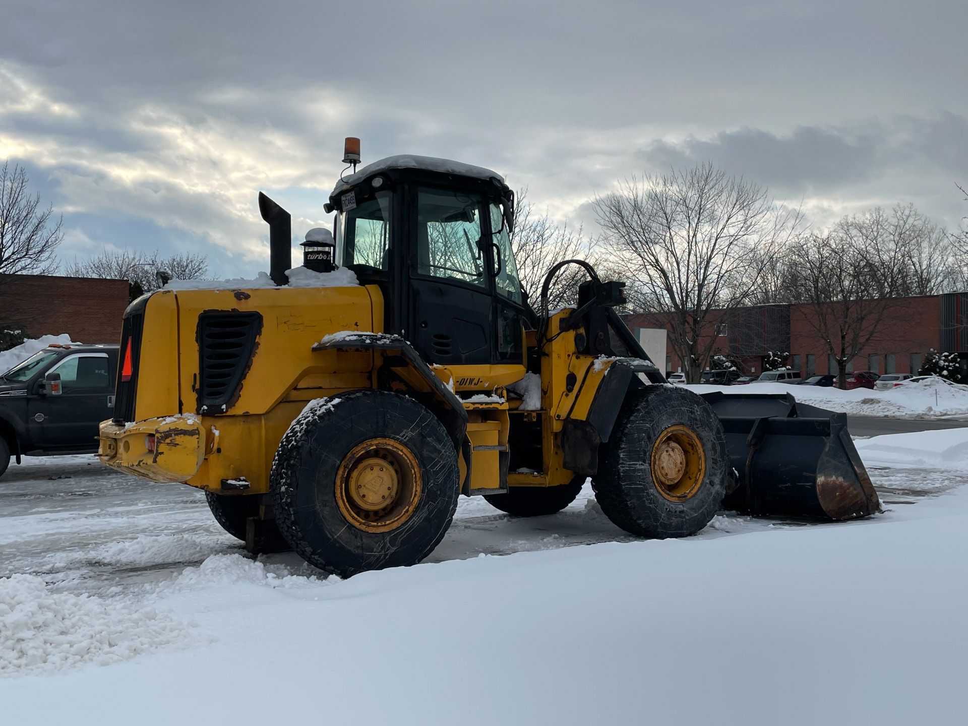
<instances>
[{"instance_id":1,"label":"black fender just behind and above the loader's front wheel","mask_svg":"<svg viewBox=\"0 0 968 726\"><path fill-rule=\"evenodd\" d=\"M598 447L608 441L621 405L632 388L643 385L637 374L658 375L648 358L617 358L605 372L584 419L567 418L561 428L564 468L591 476L598 472Z\"/></svg>"}]
</instances>

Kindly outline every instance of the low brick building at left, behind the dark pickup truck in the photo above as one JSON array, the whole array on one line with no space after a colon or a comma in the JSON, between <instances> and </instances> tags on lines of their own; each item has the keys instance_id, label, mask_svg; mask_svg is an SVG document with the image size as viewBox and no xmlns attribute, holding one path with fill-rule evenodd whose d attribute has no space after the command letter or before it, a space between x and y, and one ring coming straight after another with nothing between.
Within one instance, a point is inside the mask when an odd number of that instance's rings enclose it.
<instances>
[{"instance_id":1,"label":"low brick building at left, behind the dark pickup truck","mask_svg":"<svg viewBox=\"0 0 968 726\"><path fill-rule=\"evenodd\" d=\"M127 280L0 275L0 327L79 343L117 343L128 307Z\"/></svg>"}]
</instances>

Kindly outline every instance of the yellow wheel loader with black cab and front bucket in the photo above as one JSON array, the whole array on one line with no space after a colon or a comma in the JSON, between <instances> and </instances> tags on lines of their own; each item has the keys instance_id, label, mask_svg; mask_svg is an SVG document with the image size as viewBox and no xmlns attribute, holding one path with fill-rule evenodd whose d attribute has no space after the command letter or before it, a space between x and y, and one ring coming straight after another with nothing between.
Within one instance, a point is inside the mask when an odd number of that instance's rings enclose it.
<instances>
[{"instance_id":1,"label":"yellow wheel loader with black cab and front bucket","mask_svg":"<svg viewBox=\"0 0 968 726\"><path fill-rule=\"evenodd\" d=\"M532 308L494 171L354 166L326 204L335 238L312 230L291 270L288 213L259 207L269 277L172 282L129 307L99 453L203 489L252 552L291 548L342 576L414 564L461 495L549 515L589 477L643 537L693 534L724 499L828 519L879 507L842 414L669 385L615 312L623 284L587 262L555 265ZM549 312L572 264L588 280Z\"/></svg>"}]
</instances>

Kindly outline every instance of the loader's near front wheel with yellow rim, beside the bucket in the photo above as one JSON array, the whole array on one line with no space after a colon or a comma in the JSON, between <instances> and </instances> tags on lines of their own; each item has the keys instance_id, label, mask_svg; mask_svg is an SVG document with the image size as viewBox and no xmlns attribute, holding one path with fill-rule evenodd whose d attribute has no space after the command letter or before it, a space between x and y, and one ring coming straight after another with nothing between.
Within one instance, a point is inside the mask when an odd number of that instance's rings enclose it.
<instances>
[{"instance_id":1,"label":"loader's near front wheel with yellow rim, beside the bucket","mask_svg":"<svg viewBox=\"0 0 968 726\"><path fill-rule=\"evenodd\" d=\"M684 537L706 527L726 493L722 425L682 388L630 392L591 479L602 511L642 537Z\"/></svg>"}]
</instances>

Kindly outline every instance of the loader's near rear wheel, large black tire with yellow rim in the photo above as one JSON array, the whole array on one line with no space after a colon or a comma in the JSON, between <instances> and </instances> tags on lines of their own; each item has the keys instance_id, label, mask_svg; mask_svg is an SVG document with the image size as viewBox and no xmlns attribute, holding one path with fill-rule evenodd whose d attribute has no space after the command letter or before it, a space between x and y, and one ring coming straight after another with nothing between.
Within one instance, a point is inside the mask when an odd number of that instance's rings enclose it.
<instances>
[{"instance_id":1,"label":"loader's near rear wheel, large black tire with yellow rim","mask_svg":"<svg viewBox=\"0 0 968 726\"><path fill-rule=\"evenodd\" d=\"M450 527L457 451L427 408L386 391L307 407L272 463L279 528L311 564L349 577L416 564Z\"/></svg>"}]
</instances>

